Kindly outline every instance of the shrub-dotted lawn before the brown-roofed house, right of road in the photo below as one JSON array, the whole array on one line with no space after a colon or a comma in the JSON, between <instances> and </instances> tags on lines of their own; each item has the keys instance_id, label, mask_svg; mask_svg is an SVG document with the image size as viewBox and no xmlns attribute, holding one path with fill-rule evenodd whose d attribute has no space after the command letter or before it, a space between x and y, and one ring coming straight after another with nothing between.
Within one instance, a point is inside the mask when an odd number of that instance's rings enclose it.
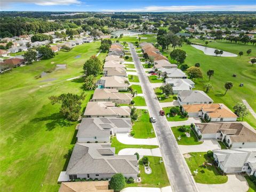
<instances>
[{"instance_id":1,"label":"shrub-dotted lawn before the brown-roofed house, right of road","mask_svg":"<svg viewBox=\"0 0 256 192\"><path fill-rule=\"evenodd\" d=\"M187 137L185 132L179 131L179 127L180 126L172 127L172 132L173 132L175 139L177 140L179 145L200 145L200 144L202 144L201 141L197 140L197 137L193 130L190 131L190 137ZM188 125L186 127L189 128L190 126ZM178 141L177 138L179 136L181 137L181 140Z\"/></svg>"}]
</instances>

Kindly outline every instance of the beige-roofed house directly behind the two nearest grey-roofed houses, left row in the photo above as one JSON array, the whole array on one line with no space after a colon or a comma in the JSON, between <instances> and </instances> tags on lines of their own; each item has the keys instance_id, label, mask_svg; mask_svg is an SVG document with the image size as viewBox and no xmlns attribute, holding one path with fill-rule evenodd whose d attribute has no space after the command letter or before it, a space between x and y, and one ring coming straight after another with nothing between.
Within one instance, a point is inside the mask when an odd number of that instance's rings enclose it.
<instances>
[{"instance_id":1,"label":"beige-roofed house directly behind the two nearest grey-roofed houses, left row","mask_svg":"<svg viewBox=\"0 0 256 192\"><path fill-rule=\"evenodd\" d=\"M111 101L88 102L84 111L85 117L130 117L129 107L115 107Z\"/></svg>"}]
</instances>

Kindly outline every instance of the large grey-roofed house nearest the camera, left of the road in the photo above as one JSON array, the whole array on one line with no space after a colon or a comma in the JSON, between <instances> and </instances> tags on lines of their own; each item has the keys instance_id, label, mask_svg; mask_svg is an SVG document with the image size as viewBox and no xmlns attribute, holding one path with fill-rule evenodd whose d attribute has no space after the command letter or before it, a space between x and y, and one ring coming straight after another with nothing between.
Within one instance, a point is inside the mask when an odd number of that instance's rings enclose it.
<instances>
[{"instance_id":1,"label":"large grey-roofed house nearest the camera, left of the road","mask_svg":"<svg viewBox=\"0 0 256 192\"><path fill-rule=\"evenodd\" d=\"M110 179L116 173L135 179L139 167L136 155L116 155L111 143L76 143L66 171L69 180Z\"/></svg>"}]
</instances>

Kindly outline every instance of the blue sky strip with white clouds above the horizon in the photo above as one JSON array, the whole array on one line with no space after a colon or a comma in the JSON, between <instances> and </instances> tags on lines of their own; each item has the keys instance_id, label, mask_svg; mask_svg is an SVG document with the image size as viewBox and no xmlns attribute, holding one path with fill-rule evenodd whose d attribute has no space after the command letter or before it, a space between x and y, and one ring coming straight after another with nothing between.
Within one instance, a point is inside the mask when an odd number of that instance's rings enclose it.
<instances>
[{"instance_id":1,"label":"blue sky strip with white clouds above the horizon","mask_svg":"<svg viewBox=\"0 0 256 192\"><path fill-rule=\"evenodd\" d=\"M255 11L256 0L0 0L1 11Z\"/></svg>"}]
</instances>

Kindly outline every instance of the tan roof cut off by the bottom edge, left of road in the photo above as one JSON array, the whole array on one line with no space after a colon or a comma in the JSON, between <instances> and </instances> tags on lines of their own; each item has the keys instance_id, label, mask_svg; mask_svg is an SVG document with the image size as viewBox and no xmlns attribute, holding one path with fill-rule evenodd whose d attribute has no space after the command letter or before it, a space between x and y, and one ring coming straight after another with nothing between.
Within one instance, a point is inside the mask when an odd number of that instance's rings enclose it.
<instances>
[{"instance_id":1,"label":"tan roof cut off by the bottom edge, left of road","mask_svg":"<svg viewBox=\"0 0 256 192\"><path fill-rule=\"evenodd\" d=\"M114 192L108 189L108 181L62 182L59 192Z\"/></svg>"}]
</instances>

